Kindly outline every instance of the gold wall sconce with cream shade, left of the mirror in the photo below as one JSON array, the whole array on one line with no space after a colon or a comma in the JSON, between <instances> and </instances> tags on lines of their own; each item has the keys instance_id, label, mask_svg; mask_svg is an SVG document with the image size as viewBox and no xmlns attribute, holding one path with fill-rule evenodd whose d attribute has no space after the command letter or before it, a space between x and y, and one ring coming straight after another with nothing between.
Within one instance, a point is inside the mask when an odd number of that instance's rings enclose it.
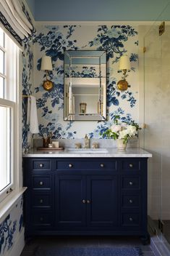
<instances>
[{"instance_id":1,"label":"gold wall sconce with cream shade, left of the mirror","mask_svg":"<svg viewBox=\"0 0 170 256\"><path fill-rule=\"evenodd\" d=\"M43 56L41 59L41 71L46 71L46 80L43 81L43 89L50 91L54 87L54 83L48 80L48 71L52 71L52 63L50 56Z\"/></svg>"}]
</instances>

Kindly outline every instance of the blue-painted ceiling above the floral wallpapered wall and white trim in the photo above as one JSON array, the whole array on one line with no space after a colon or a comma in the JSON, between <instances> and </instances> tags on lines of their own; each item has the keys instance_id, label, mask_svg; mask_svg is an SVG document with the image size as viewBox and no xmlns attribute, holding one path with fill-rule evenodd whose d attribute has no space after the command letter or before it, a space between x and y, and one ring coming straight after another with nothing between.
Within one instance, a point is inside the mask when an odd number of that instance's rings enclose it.
<instances>
[{"instance_id":1,"label":"blue-painted ceiling above the floral wallpapered wall and white trim","mask_svg":"<svg viewBox=\"0 0 170 256\"><path fill-rule=\"evenodd\" d=\"M26 0L35 20L156 20L169 0ZM170 10L170 7L169 7ZM160 20L162 17L160 18ZM170 20L170 12L163 12Z\"/></svg>"}]
</instances>

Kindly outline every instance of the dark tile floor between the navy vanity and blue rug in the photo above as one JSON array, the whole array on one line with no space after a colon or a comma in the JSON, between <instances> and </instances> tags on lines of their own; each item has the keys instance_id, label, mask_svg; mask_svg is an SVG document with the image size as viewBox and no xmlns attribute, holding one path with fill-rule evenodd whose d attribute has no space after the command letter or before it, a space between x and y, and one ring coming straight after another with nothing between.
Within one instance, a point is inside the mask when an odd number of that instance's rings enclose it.
<instances>
[{"instance_id":1,"label":"dark tile floor between the navy vanity and blue rug","mask_svg":"<svg viewBox=\"0 0 170 256\"><path fill-rule=\"evenodd\" d=\"M154 256L150 245L142 245L138 237L108 237L108 236L74 236L74 237L58 237L58 236L37 236L31 239L25 245L20 256L34 256L39 247L140 247L143 251L143 256Z\"/></svg>"}]
</instances>

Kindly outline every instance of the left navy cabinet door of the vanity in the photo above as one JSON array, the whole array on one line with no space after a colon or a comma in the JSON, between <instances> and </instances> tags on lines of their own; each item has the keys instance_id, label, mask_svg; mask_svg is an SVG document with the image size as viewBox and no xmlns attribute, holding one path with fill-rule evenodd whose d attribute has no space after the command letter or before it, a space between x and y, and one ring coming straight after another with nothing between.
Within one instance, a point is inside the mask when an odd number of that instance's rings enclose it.
<instances>
[{"instance_id":1,"label":"left navy cabinet door of the vanity","mask_svg":"<svg viewBox=\"0 0 170 256\"><path fill-rule=\"evenodd\" d=\"M56 175L56 225L58 229L85 226L85 177Z\"/></svg>"}]
</instances>

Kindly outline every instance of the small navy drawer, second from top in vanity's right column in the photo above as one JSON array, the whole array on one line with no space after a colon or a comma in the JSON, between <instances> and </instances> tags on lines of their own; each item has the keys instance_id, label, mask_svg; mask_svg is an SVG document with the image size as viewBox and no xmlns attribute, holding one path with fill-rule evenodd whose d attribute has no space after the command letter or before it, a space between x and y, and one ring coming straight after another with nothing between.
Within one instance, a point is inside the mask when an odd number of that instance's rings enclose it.
<instances>
[{"instance_id":1,"label":"small navy drawer, second from top in vanity's right column","mask_svg":"<svg viewBox=\"0 0 170 256\"><path fill-rule=\"evenodd\" d=\"M139 176L123 176L122 188L124 189L140 189L140 177Z\"/></svg>"}]
</instances>

